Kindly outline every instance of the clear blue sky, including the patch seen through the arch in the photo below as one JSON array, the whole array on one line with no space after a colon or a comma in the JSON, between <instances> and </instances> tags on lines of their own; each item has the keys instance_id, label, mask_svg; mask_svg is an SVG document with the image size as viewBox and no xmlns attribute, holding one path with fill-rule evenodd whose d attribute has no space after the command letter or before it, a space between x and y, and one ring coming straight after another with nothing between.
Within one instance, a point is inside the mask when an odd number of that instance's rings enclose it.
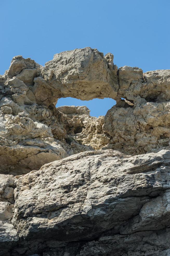
<instances>
[{"instance_id":1,"label":"clear blue sky, including the patch seen through the arch","mask_svg":"<svg viewBox=\"0 0 170 256\"><path fill-rule=\"evenodd\" d=\"M113 53L118 67L170 69L169 0L2 0L0 9L0 74L16 55L44 65L56 53L86 46ZM68 98L62 104L87 105ZM112 100L88 104L98 116Z\"/></svg>"}]
</instances>

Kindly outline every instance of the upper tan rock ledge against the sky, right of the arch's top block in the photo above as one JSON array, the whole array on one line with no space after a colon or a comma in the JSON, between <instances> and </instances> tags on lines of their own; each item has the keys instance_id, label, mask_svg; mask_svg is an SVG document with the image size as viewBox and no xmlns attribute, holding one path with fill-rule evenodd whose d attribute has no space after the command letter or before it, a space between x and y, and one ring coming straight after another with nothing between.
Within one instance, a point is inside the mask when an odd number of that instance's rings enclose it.
<instances>
[{"instance_id":1,"label":"upper tan rock ledge against the sky, right of the arch's top block","mask_svg":"<svg viewBox=\"0 0 170 256\"><path fill-rule=\"evenodd\" d=\"M170 69L142 72L141 68L124 66L118 70L118 96L138 101L169 101Z\"/></svg>"}]
</instances>

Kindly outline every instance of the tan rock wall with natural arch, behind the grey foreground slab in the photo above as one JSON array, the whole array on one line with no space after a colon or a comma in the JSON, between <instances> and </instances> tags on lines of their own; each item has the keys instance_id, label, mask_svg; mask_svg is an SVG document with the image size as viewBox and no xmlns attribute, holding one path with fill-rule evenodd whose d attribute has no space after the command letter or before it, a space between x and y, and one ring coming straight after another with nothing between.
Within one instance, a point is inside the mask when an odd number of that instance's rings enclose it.
<instances>
[{"instance_id":1,"label":"tan rock wall with natural arch, behind the grey foreground slab","mask_svg":"<svg viewBox=\"0 0 170 256\"><path fill-rule=\"evenodd\" d=\"M117 70L112 54L104 56L90 47L56 54L44 67L14 57L0 77L1 172L38 170L85 150L112 148L134 155L167 148L169 85L170 70ZM117 104L105 118L92 118L79 109L68 121L68 115L55 108L57 98L68 96L110 97Z\"/></svg>"}]
</instances>

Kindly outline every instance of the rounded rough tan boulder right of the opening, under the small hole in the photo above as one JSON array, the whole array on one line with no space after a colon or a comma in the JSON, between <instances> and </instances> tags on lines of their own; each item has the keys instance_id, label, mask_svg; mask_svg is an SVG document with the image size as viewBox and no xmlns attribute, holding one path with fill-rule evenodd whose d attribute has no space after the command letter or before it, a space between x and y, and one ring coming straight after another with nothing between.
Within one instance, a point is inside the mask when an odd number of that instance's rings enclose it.
<instances>
[{"instance_id":1,"label":"rounded rough tan boulder right of the opening, under the small hole","mask_svg":"<svg viewBox=\"0 0 170 256\"><path fill-rule=\"evenodd\" d=\"M169 102L146 102L135 107L114 106L106 114L103 131L110 135L111 148L141 154L169 148Z\"/></svg>"}]
</instances>

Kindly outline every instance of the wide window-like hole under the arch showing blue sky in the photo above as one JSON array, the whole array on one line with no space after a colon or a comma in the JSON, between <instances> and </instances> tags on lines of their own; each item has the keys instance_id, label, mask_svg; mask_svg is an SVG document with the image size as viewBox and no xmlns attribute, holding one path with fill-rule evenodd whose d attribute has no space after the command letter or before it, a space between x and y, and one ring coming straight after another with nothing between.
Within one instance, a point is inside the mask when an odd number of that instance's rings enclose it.
<instances>
[{"instance_id":1,"label":"wide window-like hole under the arch showing blue sky","mask_svg":"<svg viewBox=\"0 0 170 256\"><path fill-rule=\"evenodd\" d=\"M57 101L56 107L61 106L86 106L90 109L90 115L92 117L99 117L100 115L106 115L107 111L116 104L116 101L111 98L98 99L95 98L89 101L82 101L76 98L60 98ZM78 127L77 127L78 128ZM79 127L81 130L81 127ZM81 131L76 130L75 133Z\"/></svg>"}]
</instances>

